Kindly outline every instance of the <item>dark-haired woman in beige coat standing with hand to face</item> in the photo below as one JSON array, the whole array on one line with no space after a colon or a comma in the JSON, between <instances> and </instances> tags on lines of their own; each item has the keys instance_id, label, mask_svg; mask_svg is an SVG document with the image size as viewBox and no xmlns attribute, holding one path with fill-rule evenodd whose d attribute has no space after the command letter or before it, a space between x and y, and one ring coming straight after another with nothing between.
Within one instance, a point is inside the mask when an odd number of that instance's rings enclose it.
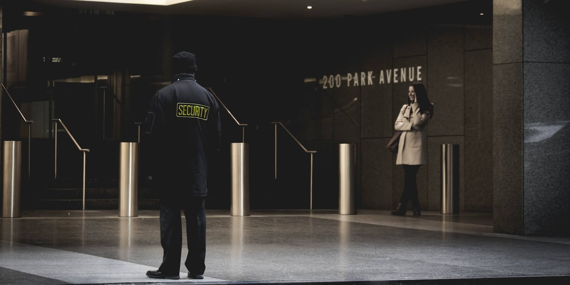
<instances>
[{"instance_id":1,"label":"dark-haired woman in beige coat standing with hand to face","mask_svg":"<svg viewBox=\"0 0 570 285\"><path fill-rule=\"evenodd\" d=\"M433 104L427 98L424 84L414 82L408 88L408 104L404 104L394 128L402 131L396 165L404 166L404 193L393 215L405 215L412 200L414 215L421 215L416 176L421 165L427 164L427 121L433 117Z\"/></svg>"}]
</instances>

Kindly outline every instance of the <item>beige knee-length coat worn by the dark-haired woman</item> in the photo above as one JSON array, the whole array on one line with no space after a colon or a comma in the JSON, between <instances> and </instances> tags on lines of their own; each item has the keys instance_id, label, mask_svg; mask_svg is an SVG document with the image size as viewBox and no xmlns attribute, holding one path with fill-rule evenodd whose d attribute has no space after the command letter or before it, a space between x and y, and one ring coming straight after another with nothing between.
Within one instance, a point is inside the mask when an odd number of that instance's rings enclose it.
<instances>
[{"instance_id":1,"label":"beige knee-length coat worn by the dark-haired woman","mask_svg":"<svg viewBox=\"0 0 570 285\"><path fill-rule=\"evenodd\" d=\"M412 116L410 116L410 108L412 108ZM429 112L420 114L420 104L418 103L402 106L400 115L394 124L396 131L402 131L396 164L427 164L427 131L425 125L429 116ZM413 124L420 126L420 131L413 129Z\"/></svg>"}]
</instances>

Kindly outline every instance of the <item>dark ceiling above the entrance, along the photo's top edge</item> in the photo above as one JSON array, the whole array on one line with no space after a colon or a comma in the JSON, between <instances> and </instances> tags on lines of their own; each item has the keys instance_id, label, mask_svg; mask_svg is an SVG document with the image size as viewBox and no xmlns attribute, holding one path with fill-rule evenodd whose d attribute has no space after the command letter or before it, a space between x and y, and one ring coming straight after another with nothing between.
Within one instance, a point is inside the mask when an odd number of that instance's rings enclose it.
<instances>
[{"instance_id":1,"label":"dark ceiling above the entrance, along the photo's top edge","mask_svg":"<svg viewBox=\"0 0 570 285\"><path fill-rule=\"evenodd\" d=\"M336 18L437 6L465 0L192 0L173 5L141 5L77 0L19 0L20 3L68 9L132 11L157 14L255 18ZM132 2L133 0L129 0ZM140 0L140 2L149 2ZM158 2L173 2L161 0ZM174 1L178 2L178 1ZM27 6L27 5L26 5ZM31 5L28 7L34 7ZM307 9L312 6L312 9Z\"/></svg>"}]
</instances>

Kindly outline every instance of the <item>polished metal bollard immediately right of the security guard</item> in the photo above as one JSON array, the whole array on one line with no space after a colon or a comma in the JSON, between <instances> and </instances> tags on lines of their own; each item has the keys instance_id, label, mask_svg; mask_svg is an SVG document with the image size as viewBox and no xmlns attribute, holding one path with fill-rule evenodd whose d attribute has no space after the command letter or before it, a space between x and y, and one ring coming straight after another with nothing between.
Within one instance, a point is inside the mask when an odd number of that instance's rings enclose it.
<instances>
[{"instance_id":1,"label":"polished metal bollard immediately right of the security guard","mask_svg":"<svg viewBox=\"0 0 570 285\"><path fill-rule=\"evenodd\" d=\"M249 145L231 144L230 215L249 216Z\"/></svg>"}]
</instances>

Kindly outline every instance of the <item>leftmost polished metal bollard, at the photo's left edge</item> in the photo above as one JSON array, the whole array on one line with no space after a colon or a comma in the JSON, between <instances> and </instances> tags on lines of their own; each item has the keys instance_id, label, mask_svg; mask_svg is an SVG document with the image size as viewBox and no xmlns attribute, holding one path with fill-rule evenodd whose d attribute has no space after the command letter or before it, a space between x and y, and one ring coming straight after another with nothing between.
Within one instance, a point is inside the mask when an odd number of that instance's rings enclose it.
<instances>
[{"instance_id":1,"label":"leftmost polished metal bollard, at the photo's left edge","mask_svg":"<svg viewBox=\"0 0 570 285\"><path fill-rule=\"evenodd\" d=\"M4 180L2 218L20 218L20 186L22 182L22 142L4 142Z\"/></svg>"}]
</instances>

